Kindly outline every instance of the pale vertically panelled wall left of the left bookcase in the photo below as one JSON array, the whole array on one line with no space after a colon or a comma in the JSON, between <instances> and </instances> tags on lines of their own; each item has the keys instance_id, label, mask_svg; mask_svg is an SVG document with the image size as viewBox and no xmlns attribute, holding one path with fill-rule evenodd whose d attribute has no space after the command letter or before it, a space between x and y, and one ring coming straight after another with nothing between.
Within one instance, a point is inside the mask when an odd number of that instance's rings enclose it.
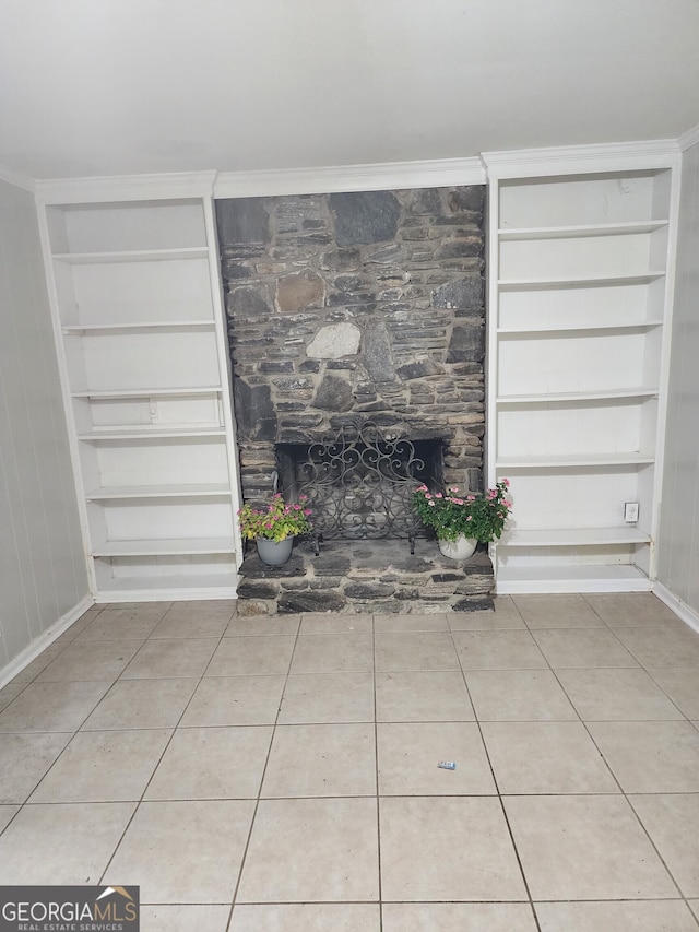
<instances>
[{"instance_id":1,"label":"pale vertically panelled wall left of the left bookcase","mask_svg":"<svg viewBox=\"0 0 699 932\"><path fill-rule=\"evenodd\" d=\"M0 180L0 681L86 595L34 198Z\"/></svg>"}]
</instances>

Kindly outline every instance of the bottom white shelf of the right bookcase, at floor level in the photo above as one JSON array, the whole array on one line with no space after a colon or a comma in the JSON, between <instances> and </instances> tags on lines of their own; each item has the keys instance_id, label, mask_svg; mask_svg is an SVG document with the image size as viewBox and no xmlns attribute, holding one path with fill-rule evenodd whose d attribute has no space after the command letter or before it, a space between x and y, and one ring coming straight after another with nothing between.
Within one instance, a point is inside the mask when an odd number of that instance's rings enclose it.
<instances>
[{"instance_id":1,"label":"bottom white shelf of the right bookcase, at floor level","mask_svg":"<svg viewBox=\"0 0 699 932\"><path fill-rule=\"evenodd\" d=\"M508 566L498 569L497 592L648 592L651 582L633 564Z\"/></svg>"}]
</instances>

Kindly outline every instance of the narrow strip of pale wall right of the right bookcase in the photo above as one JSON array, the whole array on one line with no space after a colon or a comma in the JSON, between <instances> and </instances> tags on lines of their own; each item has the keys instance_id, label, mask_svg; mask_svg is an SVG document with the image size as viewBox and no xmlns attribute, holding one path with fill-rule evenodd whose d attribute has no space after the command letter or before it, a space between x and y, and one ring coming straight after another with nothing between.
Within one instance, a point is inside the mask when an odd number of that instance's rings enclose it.
<instances>
[{"instance_id":1,"label":"narrow strip of pale wall right of the right bookcase","mask_svg":"<svg viewBox=\"0 0 699 932\"><path fill-rule=\"evenodd\" d=\"M683 158L659 580L699 615L699 143Z\"/></svg>"}]
</instances>

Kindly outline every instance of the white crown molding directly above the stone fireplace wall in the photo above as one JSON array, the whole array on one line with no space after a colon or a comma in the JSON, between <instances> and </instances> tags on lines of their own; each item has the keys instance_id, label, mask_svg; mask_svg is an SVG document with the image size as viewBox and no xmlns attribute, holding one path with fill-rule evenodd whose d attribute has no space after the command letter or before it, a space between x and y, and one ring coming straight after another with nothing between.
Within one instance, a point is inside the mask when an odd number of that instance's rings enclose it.
<instances>
[{"instance_id":1,"label":"white crown molding directly above the stone fireplace wall","mask_svg":"<svg viewBox=\"0 0 699 932\"><path fill-rule=\"evenodd\" d=\"M388 191L399 188L439 188L485 185L481 160L436 158L423 162L383 162L375 165L332 165L322 168L221 172L215 198L256 198L280 194L328 194L348 191Z\"/></svg>"}]
</instances>

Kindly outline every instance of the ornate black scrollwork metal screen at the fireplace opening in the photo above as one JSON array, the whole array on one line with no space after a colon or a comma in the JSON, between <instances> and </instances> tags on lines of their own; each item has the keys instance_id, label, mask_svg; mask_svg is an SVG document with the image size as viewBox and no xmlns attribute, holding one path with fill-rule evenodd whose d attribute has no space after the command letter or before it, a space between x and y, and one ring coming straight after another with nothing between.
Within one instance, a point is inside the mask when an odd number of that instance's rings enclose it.
<instances>
[{"instance_id":1,"label":"ornate black scrollwork metal screen at the fireplace opening","mask_svg":"<svg viewBox=\"0 0 699 932\"><path fill-rule=\"evenodd\" d=\"M372 421L352 422L332 439L279 445L280 485L287 500L308 497L316 554L319 542L331 538L405 539L414 553L422 524L412 494L423 482L438 481L441 451L440 440L410 440Z\"/></svg>"}]
</instances>

